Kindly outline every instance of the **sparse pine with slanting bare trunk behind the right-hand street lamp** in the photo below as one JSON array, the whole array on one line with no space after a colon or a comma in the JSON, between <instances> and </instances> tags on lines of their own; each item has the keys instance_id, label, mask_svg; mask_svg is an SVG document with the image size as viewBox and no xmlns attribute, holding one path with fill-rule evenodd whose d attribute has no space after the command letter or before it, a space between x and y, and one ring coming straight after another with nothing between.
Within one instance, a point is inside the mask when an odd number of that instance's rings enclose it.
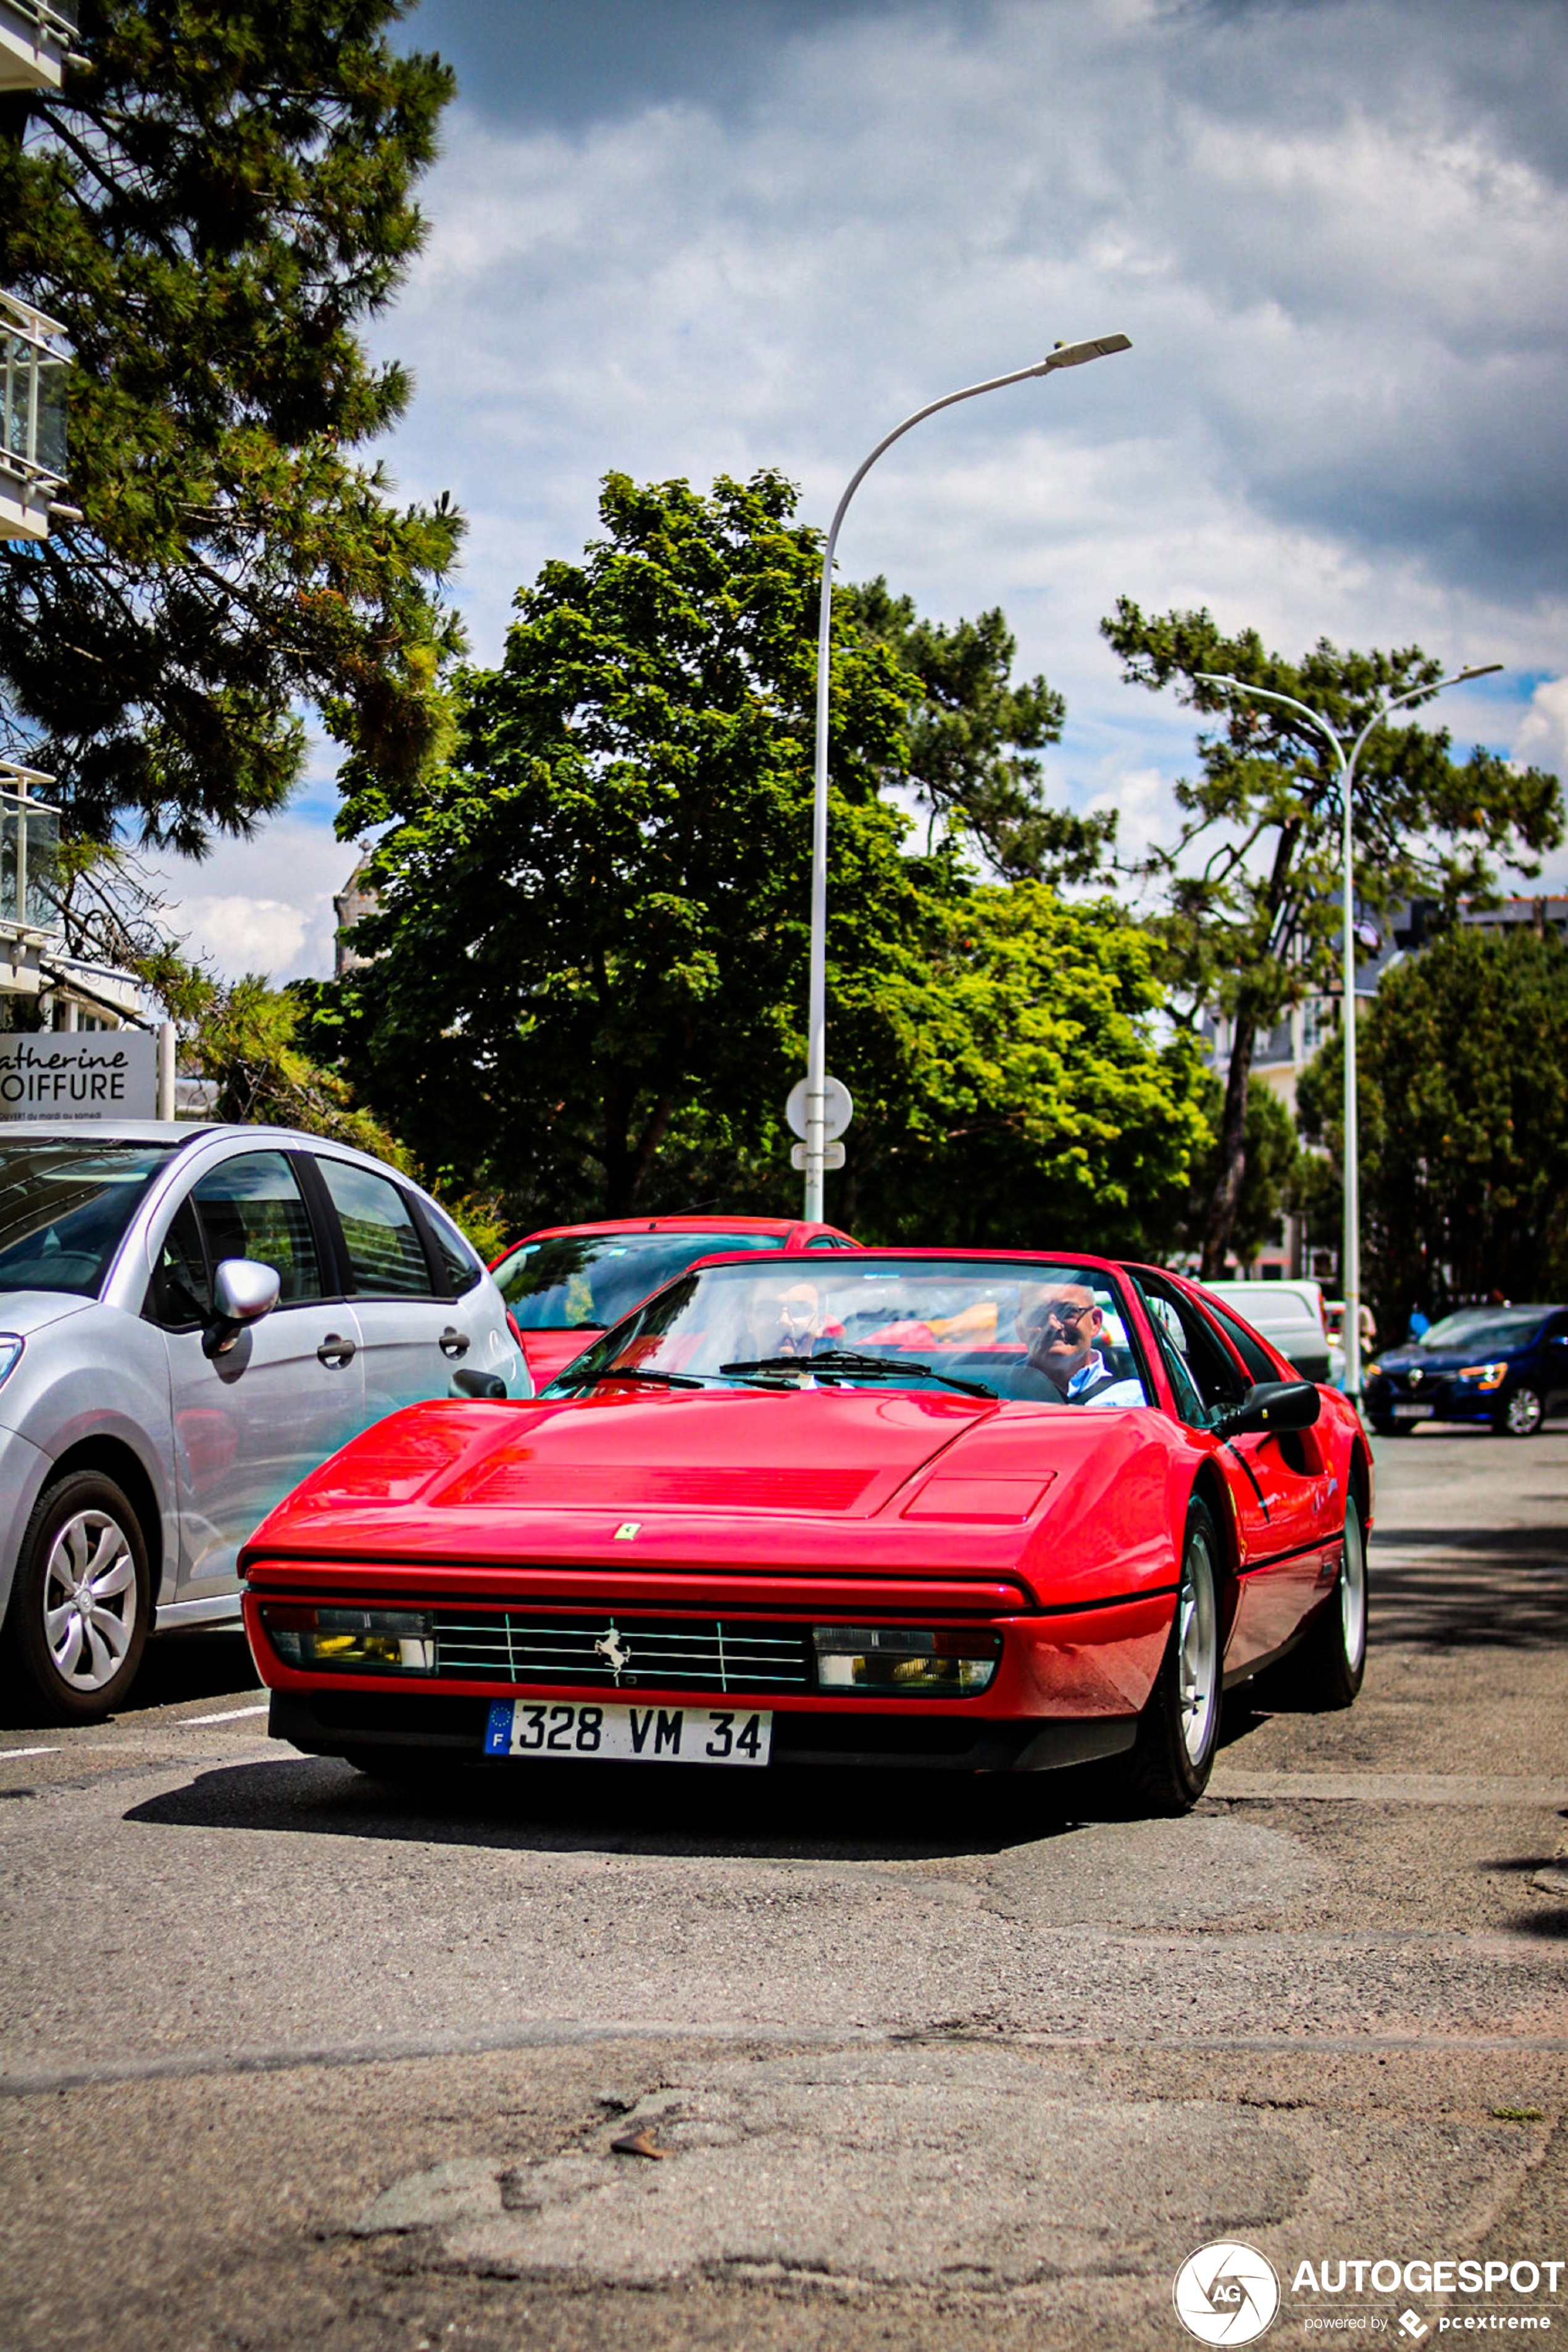
<instances>
[{"instance_id":1,"label":"sparse pine with slanting bare trunk behind the right-hand street lamp","mask_svg":"<svg viewBox=\"0 0 1568 2352\"><path fill-rule=\"evenodd\" d=\"M1175 788L1175 840L1138 868L1161 891L1166 974L1187 1021L1204 1007L1232 1021L1220 1152L1204 1221L1204 1272L1232 1244L1246 1181L1246 1103L1260 1033L1307 995L1340 985L1340 786L1324 741L1291 710L1204 684L1222 673L1293 694L1340 734L1359 731L1392 696L1434 684L1436 661L1406 647L1340 652L1319 640L1300 663L1269 654L1255 630L1227 637L1208 612L1145 616L1121 597L1105 637L1133 684L1175 684L1190 708L1222 724L1199 736L1199 776ZM1453 908L1486 894L1497 863L1540 873L1563 837L1556 776L1514 769L1490 750L1450 757L1450 736L1413 720L1380 727L1356 776L1356 887L1368 913L1427 896Z\"/></svg>"}]
</instances>

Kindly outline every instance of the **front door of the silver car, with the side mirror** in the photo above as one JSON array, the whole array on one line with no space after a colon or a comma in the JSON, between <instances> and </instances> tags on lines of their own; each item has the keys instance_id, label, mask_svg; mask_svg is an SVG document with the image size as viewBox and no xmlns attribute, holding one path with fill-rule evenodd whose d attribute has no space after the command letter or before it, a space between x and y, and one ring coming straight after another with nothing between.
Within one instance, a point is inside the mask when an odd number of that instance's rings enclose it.
<instances>
[{"instance_id":1,"label":"front door of the silver car, with the side mirror","mask_svg":"<svg viewBox=\"0 0 1568 2352\"><path fill-rule=\"evenodd\" d=\"M207 1357L223 1258L275 1268L280 1296L226 1355ZM289 1152L233 1152L197 1176L155 1244L148 1317L169 1364L179 1592L195 1599L233 1581L240 1543L364 1418L360 1329L334 1296Z\"/></svg>"}]
</instances>

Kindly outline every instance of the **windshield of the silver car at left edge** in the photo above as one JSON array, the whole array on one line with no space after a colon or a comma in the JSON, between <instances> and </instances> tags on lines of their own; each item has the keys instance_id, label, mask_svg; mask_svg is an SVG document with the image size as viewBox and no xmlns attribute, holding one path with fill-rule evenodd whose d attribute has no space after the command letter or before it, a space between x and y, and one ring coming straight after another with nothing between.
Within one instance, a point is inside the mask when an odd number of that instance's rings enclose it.
<instances>
[{"instance_id":1,"label":"windshield of the silver car at left edge","mask_svg":"<svg viewBox=\"0 0 1568 2352\"><path fill-rule=\"evenodd\" d=\"M92 1298L176 1143L0 1141L0 1291Z\"/></svg>"}]
</instances>

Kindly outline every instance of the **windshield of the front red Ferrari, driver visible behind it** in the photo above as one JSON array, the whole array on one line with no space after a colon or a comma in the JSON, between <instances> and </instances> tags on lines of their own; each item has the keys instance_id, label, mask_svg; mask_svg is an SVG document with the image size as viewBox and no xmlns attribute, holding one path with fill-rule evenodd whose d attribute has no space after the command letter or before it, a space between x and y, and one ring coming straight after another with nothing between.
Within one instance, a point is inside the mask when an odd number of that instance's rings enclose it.
<instances>
[{"instance_id":1,"label":"windshield of the front red Ferrari, driver visible behind it","mask_svg":"<svg viewBox=\"0 0 1568 2352\"><path fill-rule=\"evenodd\" d=\"M1150 1402L1110 1275L964 1258L698 1268L607 1331L545 1395L602 1381Z\"/></svg>"}]
</instances>

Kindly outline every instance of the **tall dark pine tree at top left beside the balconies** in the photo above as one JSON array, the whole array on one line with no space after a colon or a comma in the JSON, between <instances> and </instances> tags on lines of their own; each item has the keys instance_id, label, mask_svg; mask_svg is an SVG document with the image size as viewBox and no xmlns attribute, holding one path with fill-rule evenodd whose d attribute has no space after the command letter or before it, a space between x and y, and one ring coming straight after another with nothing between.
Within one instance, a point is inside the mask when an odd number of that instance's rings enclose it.
<instances>
[{"instance_id":1,"label":"tall dark pine tree at top left beside the balconies","mask_svg":"<svg viewBox=\"0 0 1568 2352\"><path fill-rule=\"evenodd\" d=\"M78 833L244 833L301 706L350 776L442 743L458 517L350 456L409 397L357 329L418 249L451 94L386 40L402 12L85 0L63 94L0 96L0 282L71 334L85 517L0 546L0 741Z\"/></svg>"}]
</instances>

